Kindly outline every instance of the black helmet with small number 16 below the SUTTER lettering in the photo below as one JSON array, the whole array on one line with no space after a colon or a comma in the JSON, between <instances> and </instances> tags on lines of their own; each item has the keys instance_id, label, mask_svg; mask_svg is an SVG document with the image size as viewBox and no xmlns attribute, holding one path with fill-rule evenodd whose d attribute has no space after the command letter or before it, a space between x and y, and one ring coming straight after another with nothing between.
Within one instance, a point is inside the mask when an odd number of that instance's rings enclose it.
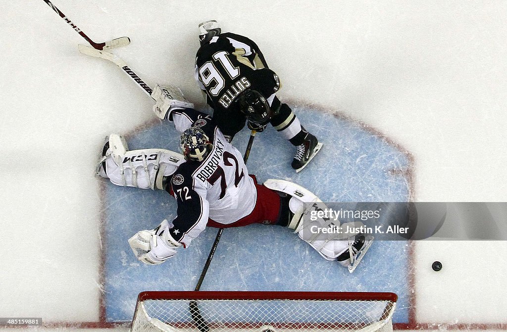
<instances>
[{"instance_id":1,"label":"black helmet with small number 16 below the SUTTER lettering","mask_svg":"<svg viewBox=\"0 0 507 332\"><path fill-rule=\"evenodd\" d=\"M239 108L250 122L266 125L271 119L271 107L259 91L245 90L238 99Z\"/></svg>"}]
</instances>

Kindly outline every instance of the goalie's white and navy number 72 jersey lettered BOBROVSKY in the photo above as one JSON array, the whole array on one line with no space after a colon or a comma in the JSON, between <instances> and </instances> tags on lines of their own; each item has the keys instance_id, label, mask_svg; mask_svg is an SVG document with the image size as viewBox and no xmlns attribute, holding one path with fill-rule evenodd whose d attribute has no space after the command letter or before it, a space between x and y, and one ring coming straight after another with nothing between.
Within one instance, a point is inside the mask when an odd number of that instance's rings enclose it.
<instances>
[{"instance_id":1,"label":"goalie's white and navy number 72 jersey lettered BOBROVSKY","mask_svg":"<svg viewBox=\"0 0 507 332\"><path fill-rule=\"evenodd\" d=\"M227 142L212 119L193 109L174 116L178 130L199 127L213 142L213 149L203 161L181 164L166 188L178 205L171 235L188 246L204 230L208 218L227 225L248 216L255 208L257 189L241 153Z\"/></svg>"}]
</instances>

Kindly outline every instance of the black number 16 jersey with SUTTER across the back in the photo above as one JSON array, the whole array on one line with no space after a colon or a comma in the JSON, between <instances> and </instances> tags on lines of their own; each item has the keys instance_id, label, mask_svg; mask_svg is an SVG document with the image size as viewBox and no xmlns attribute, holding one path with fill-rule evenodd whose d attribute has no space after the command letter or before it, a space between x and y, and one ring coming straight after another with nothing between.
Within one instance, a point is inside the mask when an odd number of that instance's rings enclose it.
<instances>
[{"instance_id":1,"label":"black number 16 jersey with SUTTER across the back","mask_svg":"<svg viewBox=\"0 0 507 332\"><path fill-rule=\"evenodd\" d=\"M197 51L195 79L226 135L234 135L244 126L246 117L236 102L242 91L257 90L271 102L280 88L278 76L268 68L259 47L230 32L214 36Z\"/></svg>"}]
</instances>

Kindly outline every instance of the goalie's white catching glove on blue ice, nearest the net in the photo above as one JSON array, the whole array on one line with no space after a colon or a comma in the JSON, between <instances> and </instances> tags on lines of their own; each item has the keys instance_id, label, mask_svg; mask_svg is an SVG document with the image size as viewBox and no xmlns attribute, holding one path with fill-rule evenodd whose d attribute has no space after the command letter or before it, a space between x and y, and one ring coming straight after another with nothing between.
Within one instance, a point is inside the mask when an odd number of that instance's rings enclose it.
<instances>
[{"instance_id":1,"label":"goalie's white catching glove on blue ice, nearest the net","mask_svg":"<svg viewBox=\"0 0 507 332\"><path fill-rule=\"evenodd\" d=\"M182 244L169 233L169 222L165 219L153 230L142 230L132 236L128 243L137 259L144 264L161 264L176 255Z\"/></svg>"}]
</instances>

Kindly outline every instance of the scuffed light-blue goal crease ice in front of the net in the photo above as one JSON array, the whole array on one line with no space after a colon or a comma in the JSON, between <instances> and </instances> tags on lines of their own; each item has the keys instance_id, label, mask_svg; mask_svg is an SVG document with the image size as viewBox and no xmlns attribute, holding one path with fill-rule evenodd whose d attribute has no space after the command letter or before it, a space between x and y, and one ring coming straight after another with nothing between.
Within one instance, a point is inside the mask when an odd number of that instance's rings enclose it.
<instances>
[{"instance_id":1,"label":"scuffed light-blue goal crease ice in front of the net","mask_svg":"<svg viewBox=\"0 0 507 332\"><path fill-rule=\"evenodd\" d=\"M324 144L308 167L291 168L295 147L273 128L258 134L247 167L259 182L278 178L296 182L323 201L407 201L410 158L357 123L330 113L293 108L303 126ZM125 134L125 133L124 133ZM249 131L233 144L244 152ZM129 136L131 149L160 147L178 151L172 123L154 125ZM393 172L393 170L395 170ZM127 240L141 229L175 217L175 200L163 191L105 186L107 202L105 293L108 321L128 321L136 295L147 290L192 290L216 235L207 228L189 248L157 266L138 264ZM125 256L125 253L127 254ZM407 243L374 243L353 274L324 260L297 234L279 226L226 229L202 290L379 291L399 295L395 322L408 321Z\"/></svg>"}]
</instances>

